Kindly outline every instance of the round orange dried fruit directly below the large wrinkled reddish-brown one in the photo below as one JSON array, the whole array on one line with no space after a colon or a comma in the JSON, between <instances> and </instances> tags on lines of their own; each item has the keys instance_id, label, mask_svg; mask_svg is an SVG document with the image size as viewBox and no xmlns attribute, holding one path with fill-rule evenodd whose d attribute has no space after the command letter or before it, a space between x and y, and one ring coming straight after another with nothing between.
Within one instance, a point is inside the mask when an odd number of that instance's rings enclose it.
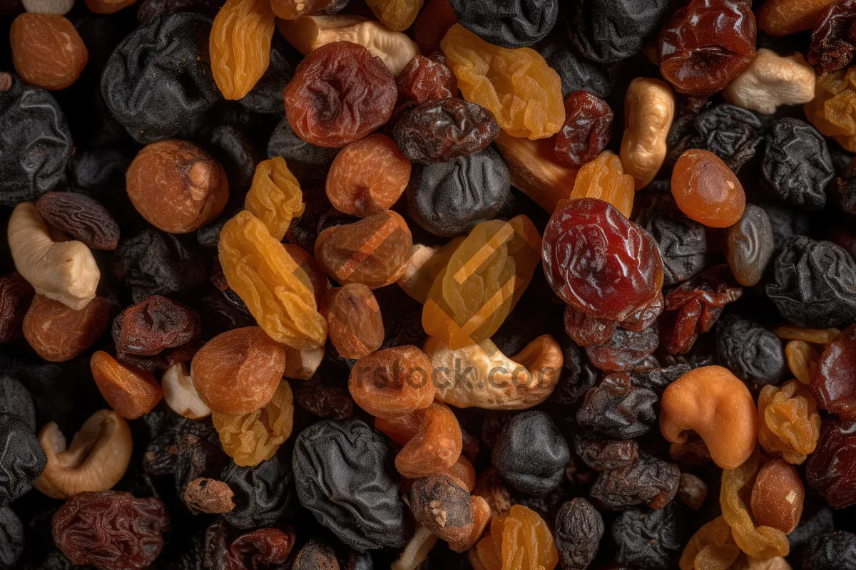
<instances>
[{"instance_id":1,"label":"round orange dried fruit directly below the large wrinkled reddish-brown one","mask_svg":"<svg viewBox=\"0 0 856 570\"><path fill-rule=\"evenodd\" d=\"M342 149L327 175L333 207L365 218L389 209L410 180L410 161L386 135L375 133Z\"/></svg>"}]
</instances>

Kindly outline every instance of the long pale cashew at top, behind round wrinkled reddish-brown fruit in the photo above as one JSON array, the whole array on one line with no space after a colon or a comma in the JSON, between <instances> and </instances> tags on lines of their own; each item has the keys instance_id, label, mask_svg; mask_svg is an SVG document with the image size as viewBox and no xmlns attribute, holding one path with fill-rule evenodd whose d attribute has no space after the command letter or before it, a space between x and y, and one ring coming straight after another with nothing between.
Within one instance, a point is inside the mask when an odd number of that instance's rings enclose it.
<instances>
[{"instance_id":1,"label":"long pale cashew at top, behind round wrinkled reddish-brown fruit","mask_svg":"<svg viewBox=\"0 0 856 570\"><path fill-rule=\"evenodd\" d=\"M302 16L292 21L278 20L276 24L288 43L304 56L324 44L352 42L381 58L395 77L419 56L419 46L407 35L361 16Z\"/></svg>"}]
</instances>

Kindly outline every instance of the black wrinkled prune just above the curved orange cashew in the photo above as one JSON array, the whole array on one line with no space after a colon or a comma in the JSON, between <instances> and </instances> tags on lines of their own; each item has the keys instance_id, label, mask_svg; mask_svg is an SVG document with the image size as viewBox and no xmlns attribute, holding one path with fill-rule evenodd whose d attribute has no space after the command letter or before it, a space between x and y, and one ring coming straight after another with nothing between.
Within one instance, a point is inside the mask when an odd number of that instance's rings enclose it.
<instances>
[{"instance_id":1,"label":"black wrinkled prune just above the curved orange cashew","mask_svg":"<svg viewBox=\"0 0 856 570\"><path fill-rule=\"evenodd\" d=\"M727 367L752 391L779 385L788 375L782 341L758 323L727 314L716 325L716 350Z\"/></svg>"}]
</instances>

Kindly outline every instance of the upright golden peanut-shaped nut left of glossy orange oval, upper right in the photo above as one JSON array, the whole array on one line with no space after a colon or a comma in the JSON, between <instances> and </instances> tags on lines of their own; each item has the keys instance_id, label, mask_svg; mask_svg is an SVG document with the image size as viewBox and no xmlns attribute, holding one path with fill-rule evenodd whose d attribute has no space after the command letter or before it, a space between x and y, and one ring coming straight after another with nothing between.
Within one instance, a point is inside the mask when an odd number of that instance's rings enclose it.
<instances>
[{"instance_id":1,"label":"upright golden peanut-shaped nut left of glossy orange oval, upper right","mask_svg":"<svg viewBox=\"0 0 856 570\"><path fill-rule=\"evenodd\" d=\"M666 160L666 137L675 118L675 94L660 79L639 77L624 97L621 164L636 181L636 190L651 184Z\"/></svg>"}]
</instances>

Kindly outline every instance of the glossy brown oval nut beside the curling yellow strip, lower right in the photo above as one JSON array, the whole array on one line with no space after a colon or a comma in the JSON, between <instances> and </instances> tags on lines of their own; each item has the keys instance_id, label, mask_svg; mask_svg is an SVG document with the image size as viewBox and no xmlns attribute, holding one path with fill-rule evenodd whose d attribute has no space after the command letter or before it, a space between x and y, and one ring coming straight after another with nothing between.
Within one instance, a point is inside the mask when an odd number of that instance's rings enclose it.
<instances>
[{"instance_id":1,"label":"glossy brown oval nut beside the curling yellow strip, lower right","mask_svg":"<svg viewBox=\"0 0 856 570\"><path fill-rule=\"evenodd\" d=\"M752 485L752 515L759 525L790 534L800 523L804 498L800 473L787 461L774 459L761 467Z\"/></svg>"}]
</instances>

